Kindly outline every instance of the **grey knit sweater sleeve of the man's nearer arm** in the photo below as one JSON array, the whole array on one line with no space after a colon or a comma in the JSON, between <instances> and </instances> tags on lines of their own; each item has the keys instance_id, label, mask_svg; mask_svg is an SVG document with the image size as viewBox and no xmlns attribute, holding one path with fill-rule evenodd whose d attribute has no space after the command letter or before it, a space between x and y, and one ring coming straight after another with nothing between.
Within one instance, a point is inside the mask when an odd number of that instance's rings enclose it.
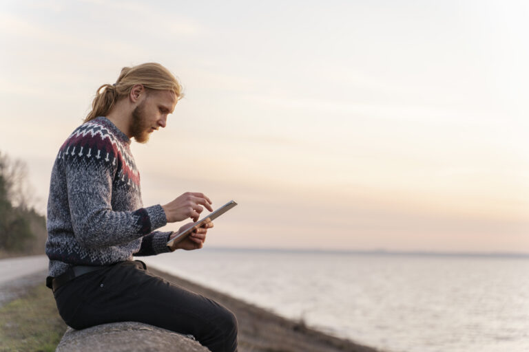
<instances>
[{"instance_id":1,"label":"grey knit sweater sleeve of the man's nearer arm","mask_svg":"<svg viewBox=\"0 0 529 352\"><path fill-rule=\"evenodd\" d=\"M76 149L77 148L77 149ZM94 153L70 145L65 153L68 203L74 234L87 248L101 248L134 241L167 223L160 205L134 211L114 211L112 188L119 161L112 145ZM127 185L120 185L127 187ZM132 186L129 186L132 187ZM139 192L139 190L137 190Z\"/></svg>"}]
</instances>

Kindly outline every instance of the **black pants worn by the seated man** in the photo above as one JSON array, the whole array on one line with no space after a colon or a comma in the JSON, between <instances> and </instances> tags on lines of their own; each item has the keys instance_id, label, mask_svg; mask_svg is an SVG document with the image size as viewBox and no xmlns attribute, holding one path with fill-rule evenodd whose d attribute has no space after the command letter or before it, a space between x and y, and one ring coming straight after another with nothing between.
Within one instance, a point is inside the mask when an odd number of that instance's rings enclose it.
<instances>
[{"instance_id":1,"label":"black pants worn by the seated man","mask_svg":"<svg viewBox=\"0 0 529 352\"><path fill-rule=\"evenodd\" d=\"M237 351L237 320L214 300L125 261L81 275L54 292L59 314L74 329L107 322L144 322L193 335L213 352Z\"/></svg>"}]
</instances>

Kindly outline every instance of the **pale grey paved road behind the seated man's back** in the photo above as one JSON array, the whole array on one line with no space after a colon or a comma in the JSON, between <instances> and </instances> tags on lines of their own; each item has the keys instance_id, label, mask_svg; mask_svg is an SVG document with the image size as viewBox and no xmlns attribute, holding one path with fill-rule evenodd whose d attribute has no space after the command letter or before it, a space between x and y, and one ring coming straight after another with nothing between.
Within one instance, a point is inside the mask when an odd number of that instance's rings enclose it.
<instances>
[{"instance_id":1,"label":"pale grey paved road behind the seated man's back","mask_svg":"<svg viewBox=\"0 0 529 352\"><path fill-rule=\"evenodd\" d=\"M44 285L48 275L48 257L23 256L0 259L0 307L36 285Z\"/></svg>"}]
</instances>

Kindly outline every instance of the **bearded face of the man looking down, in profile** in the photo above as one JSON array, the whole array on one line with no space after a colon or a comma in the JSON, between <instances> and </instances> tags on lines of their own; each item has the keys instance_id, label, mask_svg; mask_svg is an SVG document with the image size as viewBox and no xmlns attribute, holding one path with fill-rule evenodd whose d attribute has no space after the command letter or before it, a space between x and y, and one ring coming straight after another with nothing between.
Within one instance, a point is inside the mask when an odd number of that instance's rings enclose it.
<instances>
[{"instance_id":1,"label":"bearded face of the man looking down, in profile","mask_svg":"<svg viewBox=\"0 0 529 352\"><path fill-rule=\"evenodd\" d=\"M136 142L146 143L150 133L165 127L167 115L173 113L176 96L172 91L151 89L144 91L145 97L132 111L131 137Z\"/></svg>"}]
</instances>

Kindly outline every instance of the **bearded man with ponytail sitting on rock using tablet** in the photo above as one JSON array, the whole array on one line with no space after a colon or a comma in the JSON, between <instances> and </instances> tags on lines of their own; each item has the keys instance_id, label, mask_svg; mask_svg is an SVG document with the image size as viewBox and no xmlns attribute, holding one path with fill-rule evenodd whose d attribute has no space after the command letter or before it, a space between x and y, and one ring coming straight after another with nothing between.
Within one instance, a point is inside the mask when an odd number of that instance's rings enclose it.
<instances>
[{"instance_id":1,"label":"bearded man with ponytail sitting on rock using tablet","mask_svg":"<svg viewBox=\"0 0 529 352\"><path fill-rule=\"evenodd\" d=\"M48 199L50 258L47 284L59 314L74 329L136 321L193 335L211 351L237 350L234 314L218 303L147 272L132 256L202 248L207 229L166 245L173 232L157 228L197 221L208 197L186 192L164 206L143 207L131 138L145 143L165 127L182 98L165 67L125 67L114 85L101 86L92 111L59 149ZM180 230L194 223L183 225Z\"/></svg>"}]
</instances>

